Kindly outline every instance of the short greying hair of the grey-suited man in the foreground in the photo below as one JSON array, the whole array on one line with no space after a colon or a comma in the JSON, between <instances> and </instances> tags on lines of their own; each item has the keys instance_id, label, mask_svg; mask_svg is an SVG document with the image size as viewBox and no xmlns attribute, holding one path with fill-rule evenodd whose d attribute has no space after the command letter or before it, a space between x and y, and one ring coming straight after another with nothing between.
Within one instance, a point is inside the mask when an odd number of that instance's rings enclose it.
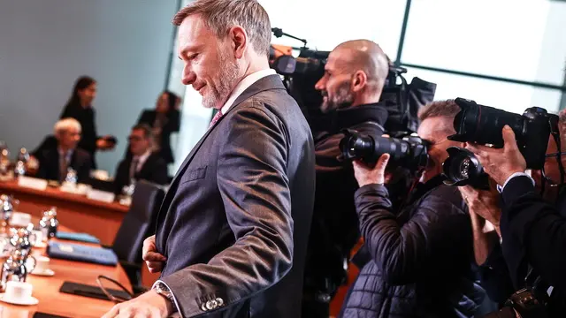
<instances>
[{"instance_id":1,"label":"short greying hair of the grey-suited man in the foreground","mask_svg":"<svg viewBox=\"0 0 566 318\"><path fill-rule=\"evenodd\" d=\"M242 27L256 53L269 57L272 25L264 7L256 0L195 0L175 14L173 24L180 26L184 19L195 14L203 17L219 39L224 39L231 27Z\"/></svg>"}]
</instances>

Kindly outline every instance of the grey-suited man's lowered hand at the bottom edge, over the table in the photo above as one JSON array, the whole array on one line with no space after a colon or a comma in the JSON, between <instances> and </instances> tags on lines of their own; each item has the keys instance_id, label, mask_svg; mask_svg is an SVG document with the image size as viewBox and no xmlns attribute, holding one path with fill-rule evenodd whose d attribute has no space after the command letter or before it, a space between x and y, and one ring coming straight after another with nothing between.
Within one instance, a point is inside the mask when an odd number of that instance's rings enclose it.
<instances>
[{"instance_id":1,"label":"grey-suited man's lowered hand at the bottom edge, over the table","mask_svg":"<svg viewBox=\"0 0 566 318\"><path fill-rule=\"evenodd\" d=\"M173 304L156 291L118 304L103 315L103 318L166 318L173 312Z\"/></svg>"}]
</instances>

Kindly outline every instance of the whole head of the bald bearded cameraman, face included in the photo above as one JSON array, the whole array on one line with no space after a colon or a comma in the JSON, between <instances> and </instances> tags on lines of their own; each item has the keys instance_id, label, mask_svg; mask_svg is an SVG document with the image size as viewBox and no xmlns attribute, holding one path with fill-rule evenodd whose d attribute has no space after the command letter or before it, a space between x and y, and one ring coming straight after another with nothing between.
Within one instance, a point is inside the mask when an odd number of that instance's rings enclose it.
<instances>
[{"instance_id":1,"label":"whole head of the bald bearded cameraman, face included","mask_svg":"<svg viewBox=\"0 0 566 318\"><path fill-rule=\"evenodd\" d=\"M341 43L328 55L325 76L315 86L324 97L321 110L379 102L388 72L386 54L375 42Z\"/></svg>"}]
</instances>

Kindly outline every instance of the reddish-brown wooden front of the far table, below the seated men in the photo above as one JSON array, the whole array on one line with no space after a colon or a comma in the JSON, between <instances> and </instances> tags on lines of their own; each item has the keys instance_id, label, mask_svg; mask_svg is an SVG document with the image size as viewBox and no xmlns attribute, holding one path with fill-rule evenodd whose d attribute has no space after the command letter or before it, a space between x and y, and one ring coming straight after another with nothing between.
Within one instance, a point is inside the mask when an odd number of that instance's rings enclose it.
<instances>
[{"instance_id":1,"label":"reddish-brown wooden front of the far table, below the seated men","mask_svg":"<svg viewBox=\"0 0 566 318\"><path fill-rule=\"evenodd\" d=\"M0 193L19 200L16 211L41 217L42 212L57 207L60 223L77 232L94 235L103 245L111 246L129 207L118 202L88 199L85 195L66 193L56 187L45 190L19 186L15 180L0 182Z\"/></svg>"}]
</instances>

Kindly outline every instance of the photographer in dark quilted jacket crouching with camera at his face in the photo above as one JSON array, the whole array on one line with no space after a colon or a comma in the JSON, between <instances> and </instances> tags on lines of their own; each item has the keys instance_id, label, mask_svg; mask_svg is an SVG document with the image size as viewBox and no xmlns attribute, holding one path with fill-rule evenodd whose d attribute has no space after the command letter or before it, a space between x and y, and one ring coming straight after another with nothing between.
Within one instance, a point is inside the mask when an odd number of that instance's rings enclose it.
<instances>
[{"instance_id":1,"label":"photographer in dark quilted jacket crouching with camera at his face","mask_svg":"<svg viewBox=\"0 0 566 318\"><path fill-rule=\"evenodd\" d=\"M472 317L485 292L473 284L470 216L457 188L442 184L447 140L459 107L432 102L419 112L418 135L430 142L422 181L401 211L393 211L382 155L375 167L356 161L356 212L371 254L351 286L340 316Z\"/></svg>"}]
</instances>

